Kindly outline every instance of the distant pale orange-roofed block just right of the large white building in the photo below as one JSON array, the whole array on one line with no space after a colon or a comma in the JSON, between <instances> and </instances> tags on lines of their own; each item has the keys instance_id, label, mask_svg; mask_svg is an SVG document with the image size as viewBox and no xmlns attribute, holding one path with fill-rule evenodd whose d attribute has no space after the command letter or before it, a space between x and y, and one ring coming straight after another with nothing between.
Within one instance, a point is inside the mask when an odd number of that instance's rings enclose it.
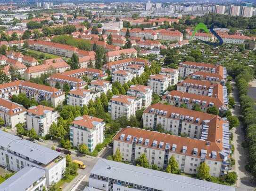
<instances>
[{"instance_id":1,"label":"distant pale orange-roofed block just right of the large white building","mask_svg":"<svg viewBox=\"0 0 256 191\"><path fill-rule=\"evenodd\" d=\"M120 35L125 36L126 34L126 29L123 29L120 31ZM151 40L156 40L157 39L157 32L151 30L151 29L145 29L141 30L139 28L134 28L130 30L130 36L131 37L139 37L139 38L146 38L146 39L151 39Z\"/></svg>"}]
</instances>

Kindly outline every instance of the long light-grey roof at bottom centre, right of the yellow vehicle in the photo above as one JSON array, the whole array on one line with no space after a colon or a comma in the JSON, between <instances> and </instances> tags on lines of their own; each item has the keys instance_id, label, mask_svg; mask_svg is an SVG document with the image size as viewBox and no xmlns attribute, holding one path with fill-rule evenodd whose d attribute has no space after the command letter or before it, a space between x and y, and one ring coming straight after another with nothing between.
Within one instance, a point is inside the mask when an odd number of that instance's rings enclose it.
<instances>
[{"instance_id":1,"label":"long light-grey roof at bottom centre, right of the yellow vehicle","mask_svg":"<svg viewBox=\"0 0 256 191\"><path fill-rule=\"evenodd\" d=\"M91 174L110 177L162 191L235 191L235 188L231 186L101 158L92 168Z\"/></svg>"}]
</instances>

